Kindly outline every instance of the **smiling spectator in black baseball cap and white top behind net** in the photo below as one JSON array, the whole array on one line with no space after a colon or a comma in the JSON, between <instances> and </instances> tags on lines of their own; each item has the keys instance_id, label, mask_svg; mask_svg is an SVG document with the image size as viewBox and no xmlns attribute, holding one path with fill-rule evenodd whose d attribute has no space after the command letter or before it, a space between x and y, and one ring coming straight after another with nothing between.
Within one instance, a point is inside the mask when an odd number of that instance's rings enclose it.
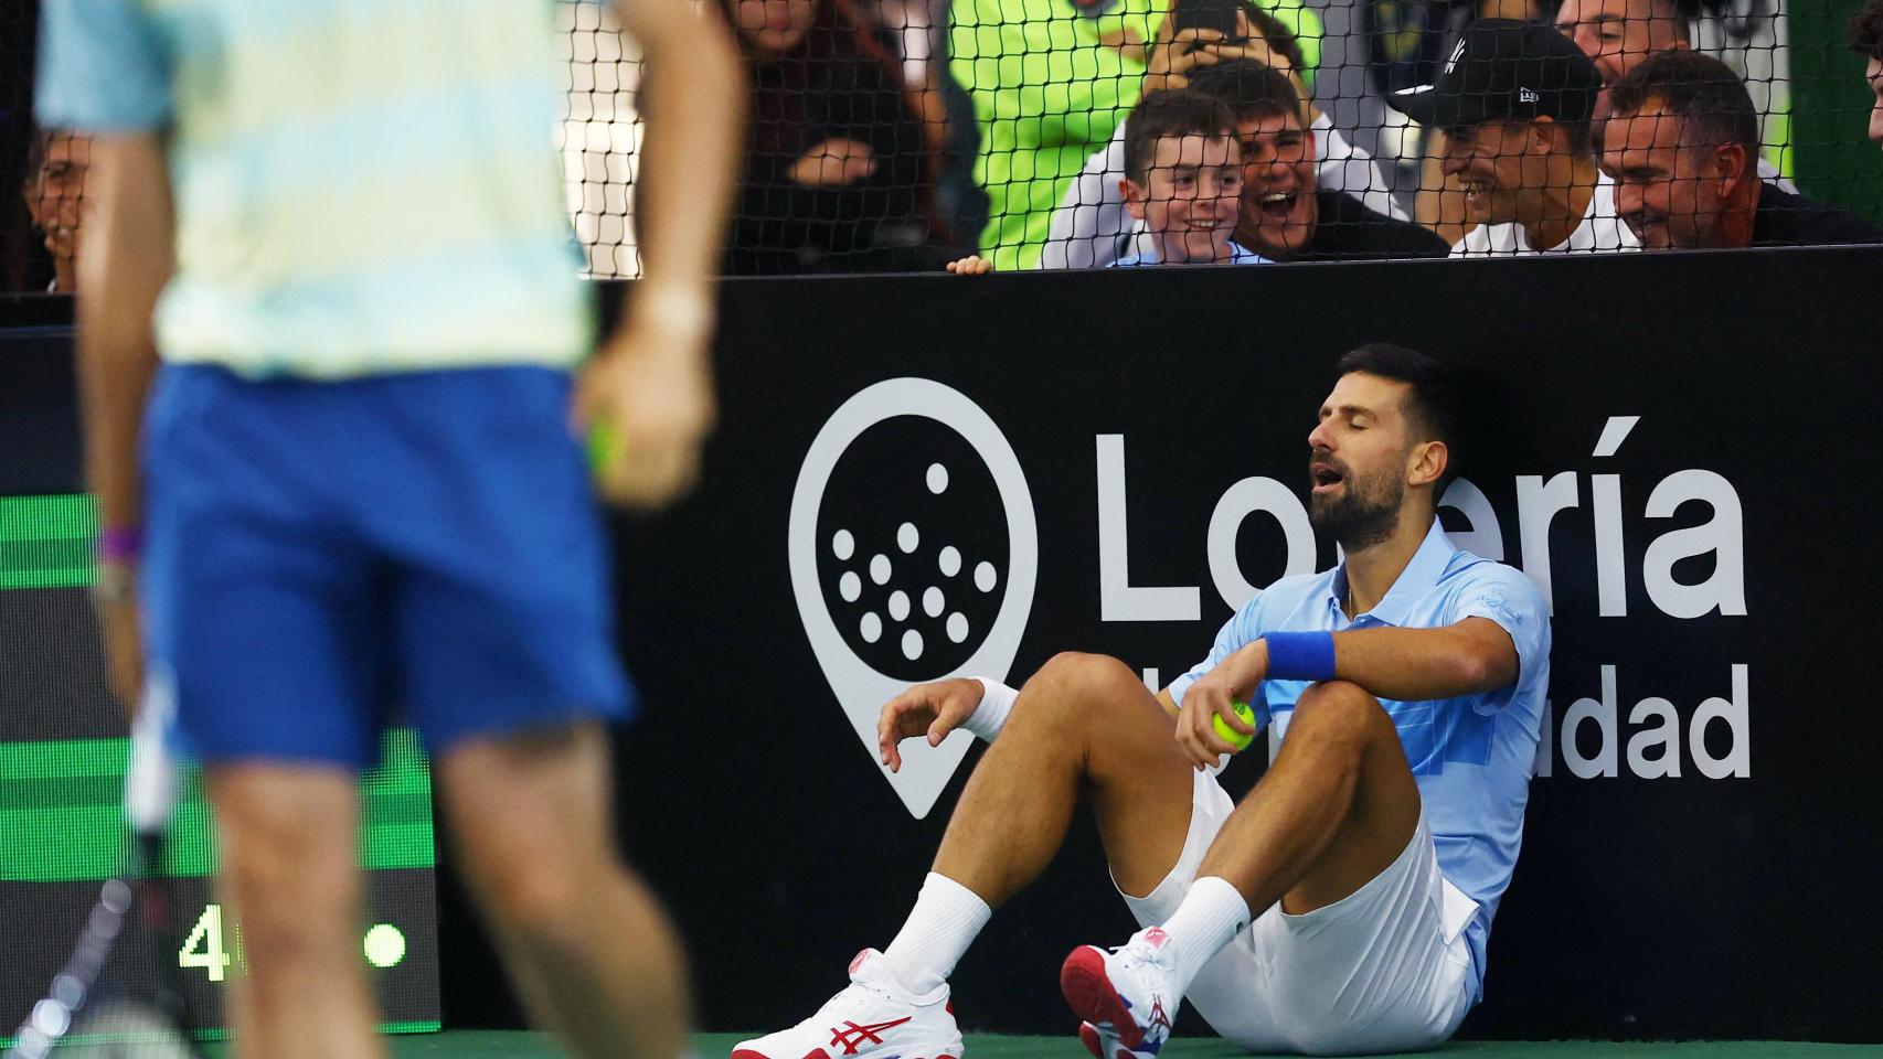
<instances>
[{"instance_id":1,"label":"smiling spectator in black baseball cap and white top behind net","mask_svg":"<svg viewBox=\"0 0 1883 1059\"><path fill-rule=\"evenodd\" d=\"M1431 85L1388 103L1444 134L1442 167L1476 224L1452 256L1631 250L1597 166L1589 117L1602 75L1544 23L1478 19Z\"/></svg>"}]
</instances>

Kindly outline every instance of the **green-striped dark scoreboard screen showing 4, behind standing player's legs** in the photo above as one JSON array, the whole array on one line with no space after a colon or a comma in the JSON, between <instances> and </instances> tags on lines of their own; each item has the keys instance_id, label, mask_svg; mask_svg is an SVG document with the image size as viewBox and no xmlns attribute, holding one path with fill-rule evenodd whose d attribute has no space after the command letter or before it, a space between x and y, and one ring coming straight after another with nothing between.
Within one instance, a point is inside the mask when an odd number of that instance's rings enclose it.
<instances>
[{"instance_id":1,"label":"green-striped dark scoreboard screen showing 4, behind standing player's legs","mask_svg":"<svg viewBox=\"0 0 1883 1059\"><path fill-rule=\"evenodd\" d=\"M89 609L92 534L85 497L0 497L0 1048L70 956L98 884L121 867L128 739ZM362 777L360 959L386 1031L433 1031L431 769L410 730L388 732L382 751ZM179 782L164 871L179 880L188 925L177 963L192 1021L222 1036L222 989L247 957L241 924L215 899L215 828L194 769Z\"/></svg>"}]
</instances>

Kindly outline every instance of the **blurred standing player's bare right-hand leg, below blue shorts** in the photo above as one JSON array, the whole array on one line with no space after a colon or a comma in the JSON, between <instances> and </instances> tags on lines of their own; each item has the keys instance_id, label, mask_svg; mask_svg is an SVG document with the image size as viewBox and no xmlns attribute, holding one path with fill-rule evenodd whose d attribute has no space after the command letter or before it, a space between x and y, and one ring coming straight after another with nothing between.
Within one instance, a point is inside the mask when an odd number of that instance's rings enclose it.
<instances>
[{"instance_id":1,"label":"blurred standing player's bare right-hand leg, below blue shorts","mask_svg":"<svg viewBox=\"0 0 1883 1059\"><path fill-rule=\"evenodd\" d=\"M685 954L616 856L599 724L471 739L439 762L446 820L518 993L571 1055L674 1059Z\"/></svg>"}]
</instances>

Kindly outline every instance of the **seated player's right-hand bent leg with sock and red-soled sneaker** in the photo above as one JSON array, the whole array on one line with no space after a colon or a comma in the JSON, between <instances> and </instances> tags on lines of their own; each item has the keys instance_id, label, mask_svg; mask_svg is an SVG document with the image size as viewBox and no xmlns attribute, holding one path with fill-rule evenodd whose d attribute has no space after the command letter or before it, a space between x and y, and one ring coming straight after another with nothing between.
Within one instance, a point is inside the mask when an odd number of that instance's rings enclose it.
<instances>
[{"instance_id":1,"label":"seated player's right-hand bent leg with sock and red-soled sneaker","mask_svg":"<svg viewBox=\"0 0 1883 1059\"><path fill-rule=\"evenodd\" d=\"M1303 914L1352 895L1386 871L1418 830L1418 784L1378 700L1329 681L1301 696L1280 754L1218 831L1177 912L1115 952L1073 950L1066 1001L1100 1033L1086 1046L1117 1059L1169 1036L1198 971L1269 905Z\"/></svg>"}]
</instances>

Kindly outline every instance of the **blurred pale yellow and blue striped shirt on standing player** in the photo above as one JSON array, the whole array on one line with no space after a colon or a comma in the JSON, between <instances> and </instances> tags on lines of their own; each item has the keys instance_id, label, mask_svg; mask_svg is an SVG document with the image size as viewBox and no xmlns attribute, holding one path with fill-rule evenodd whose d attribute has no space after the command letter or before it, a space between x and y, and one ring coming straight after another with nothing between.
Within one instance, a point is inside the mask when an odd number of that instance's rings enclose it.
<instances>
[{"instance_id":1,"label":"blurred pale yellow and blue striped shirt on standing player","mask_svg":"<svg viewBox=\"0 0 1883 1059\"><path fill-rule=\"evenodd\" d=\"M169 361L346 378L593 344L552 0L56 0L38 117L166 132Z\"/></svg>"}]
</instances>

